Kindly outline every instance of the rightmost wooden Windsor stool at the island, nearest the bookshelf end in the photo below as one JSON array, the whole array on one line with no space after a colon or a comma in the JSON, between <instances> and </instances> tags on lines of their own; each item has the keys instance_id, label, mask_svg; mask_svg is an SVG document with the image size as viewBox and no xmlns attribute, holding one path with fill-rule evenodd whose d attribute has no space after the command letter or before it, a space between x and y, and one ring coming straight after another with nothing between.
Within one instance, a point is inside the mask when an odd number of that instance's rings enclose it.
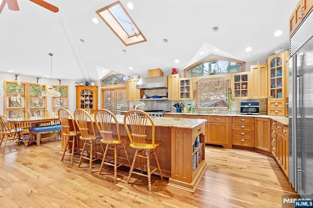
<instances>
[{"instance_id":1,"label":"rightmost wooden Windsor stool at the island, nearest the bookshelf end","mask_svg":"<svg viewBox=\"0 0 313 208\"><path fill-rule=\"evenodd\" d=\"M156 156L156 147L162 144L161 141L155 140L155 125L148 113L142 110L130 110L124 116L124 125L131 141L130 147L135 149L134 160L129 171L127 184L131 179L132 173L148 177L148 188L151 191L151 174L156 170L159 171L161 179L163 179L161 167ZM151 126L151 133L148 135L147 125ZM141 153L141 154L140 154ZM150 170L150 155L153 154L156 159L156 168ZM135 166L136 158L140 157L141 162ZM147 174L143 173L144 160L146 159ZM134 171L141 166L141 172Z\"/></svg>"}]
</instances>

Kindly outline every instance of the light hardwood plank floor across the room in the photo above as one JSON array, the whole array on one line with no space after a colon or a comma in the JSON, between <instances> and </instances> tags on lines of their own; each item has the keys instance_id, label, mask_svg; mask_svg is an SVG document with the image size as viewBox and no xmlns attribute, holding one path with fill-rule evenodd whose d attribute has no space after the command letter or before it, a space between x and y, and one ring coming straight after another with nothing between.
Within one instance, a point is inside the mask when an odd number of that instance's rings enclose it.
<instances>
[{"instance_id":1,"label":"light hardwood plank floor across the room","mask_svg":"<svg viewBox=\"0 0 313 208\"><path fill-rule=\"evenodd\" d=\"M167 186L168 179L133 175L126 184L128 167L105 166L102 175L77 167L78 158L61 161L60 140L40 146L9 144L0 149L1 208L99 207L282 207L282 194L294 193L275 160L240 149L205 148L208 168L195 193ZM161 157L159 157L161 158ZM100 167L100 162L95 168Z\"/></svg>"}]
</instances>

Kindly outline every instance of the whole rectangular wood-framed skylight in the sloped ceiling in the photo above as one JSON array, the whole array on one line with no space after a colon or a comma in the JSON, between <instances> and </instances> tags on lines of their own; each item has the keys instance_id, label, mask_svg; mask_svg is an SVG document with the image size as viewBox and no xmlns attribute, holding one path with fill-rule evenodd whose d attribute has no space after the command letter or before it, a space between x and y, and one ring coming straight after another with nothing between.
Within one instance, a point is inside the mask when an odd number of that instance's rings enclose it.
<instances>
[{"instance_id":1,"label":"whole rectangular wood-framed skylight in the sloped ceiling","mask_svg":"<svg viewBox=\"0 0 313 208\"><path fill-rule=\"evenodd\" d=\"M119 1L96 13L126 46L147 41Z\"/></svg>"}]
</instances>

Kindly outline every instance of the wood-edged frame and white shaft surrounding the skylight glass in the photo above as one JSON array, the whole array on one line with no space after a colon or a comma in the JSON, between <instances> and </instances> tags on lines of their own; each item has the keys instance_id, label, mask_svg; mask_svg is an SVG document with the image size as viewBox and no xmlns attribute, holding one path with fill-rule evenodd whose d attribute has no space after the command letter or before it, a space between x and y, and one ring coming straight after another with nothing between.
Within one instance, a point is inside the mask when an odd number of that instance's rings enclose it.
<instances>
[{"instance_id":1,"label":"wood-edged frame and white shaft surrounding the skylight glass","mask_svg":"<svg viewBox=\"0 0 313 208\"><path fill-rule=\"evenodd\" d=\"M125 31L125 29L120 25L120 23L115 19L115 17L112 15L112 13L109 11L109 9L115 5L119 4L125 14L128 16L129 20L131 20L138 30L138 35L128 35L128 33ZM131 16L128 14L128 12L125 10L123 5L120 1L116 1L109 6L106 6L102 9L99 9L96 11L96 13L99 15L101 20L103 20L108 27L113 31L113 33L124 43L125 46L133 45L140 42L146 42L147 39L143 36L142 32L139 30L138 26L134 22L134 20L131 18Z\"/></svg>"}]
</instances>

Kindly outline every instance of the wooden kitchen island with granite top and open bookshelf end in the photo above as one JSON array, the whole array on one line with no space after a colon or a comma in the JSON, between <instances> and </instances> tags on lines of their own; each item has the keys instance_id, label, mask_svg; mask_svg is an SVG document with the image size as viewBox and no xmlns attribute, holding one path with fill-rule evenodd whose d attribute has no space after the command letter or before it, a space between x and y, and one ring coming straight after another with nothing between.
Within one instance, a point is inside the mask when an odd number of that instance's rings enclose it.
<instances>
[{"instance_id":1,"label":"wooden kitchen island with granite top and open bookshelf end","mask_svg":"<svg viewBox=\"0 0 313 208\"><path fill-rule=\"evenodd\" d=\"M127 136L124 116L117 115L116 118L121 136ZM163 176L169 178L168 185L195 192L207 167L204 151L206 120L163 117L153 117L152 119L155 124L155 138L162 142L162 145L155 151ZM149 135L151 127L149 124L147 125L146 130ZM113 132L116 133L115 125L112 127ZM97 134L100 136L99 132ZM126 148L132 161L135 150L129 146L129 143L129 141L126 143ZM112 155L113 152L109 151L108 156ZM118 157L125 158L126 156L123 151L119 151ZM154 157L151 158L150 165L153 168L156 167ZM157 174L157 171L154 174Z\"/></svg>"}]
</instances>

